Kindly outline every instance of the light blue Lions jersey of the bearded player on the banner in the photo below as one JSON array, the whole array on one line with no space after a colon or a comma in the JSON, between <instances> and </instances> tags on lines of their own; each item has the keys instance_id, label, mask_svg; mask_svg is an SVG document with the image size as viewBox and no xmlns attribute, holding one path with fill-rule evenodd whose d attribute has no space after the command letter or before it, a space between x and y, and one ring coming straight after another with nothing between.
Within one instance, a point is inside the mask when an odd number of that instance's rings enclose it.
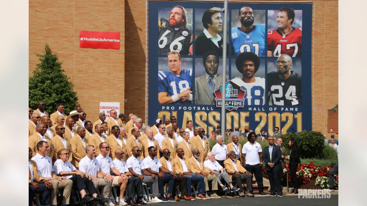
<instances>
[{"instance_id":1,"label":"light blue Lions jersey of the bearded player on the banner","mask_svg":"<svg viewBox=\"0 0 367 206\"><path fill-rule=\"evenodd\" d=\"M254 25L250 33L244 33L240 27L231 31L232 55L237 56L242 52L252 52L258 56L265 56L265 24Z\"/></svg>"}]
</instances>

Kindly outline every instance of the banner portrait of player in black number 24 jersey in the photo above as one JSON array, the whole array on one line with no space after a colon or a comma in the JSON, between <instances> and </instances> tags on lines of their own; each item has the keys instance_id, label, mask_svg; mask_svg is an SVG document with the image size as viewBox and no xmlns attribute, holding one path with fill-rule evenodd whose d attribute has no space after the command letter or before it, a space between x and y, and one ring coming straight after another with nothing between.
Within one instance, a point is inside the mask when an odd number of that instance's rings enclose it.
<instances>
[{"instance_id":1,"label":"banner portrait of player in black number 24 jersey","mask_svg":"<svg viewBox=\"0 0 367 206\"><path fill-rule=\"evenodd\" d=\"M268 59L269 105L302 105L302 61L288 54Z\"/></svg>"}]
</instances>

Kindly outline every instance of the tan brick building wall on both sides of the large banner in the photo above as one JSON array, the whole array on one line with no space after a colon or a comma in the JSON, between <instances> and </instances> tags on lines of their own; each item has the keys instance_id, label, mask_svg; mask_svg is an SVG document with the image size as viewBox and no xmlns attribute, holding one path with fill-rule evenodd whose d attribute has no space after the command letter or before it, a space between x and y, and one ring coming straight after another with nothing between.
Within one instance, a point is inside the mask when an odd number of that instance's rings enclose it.
<instances>
[{"instance_id":1,"label":"tan brick building wall on both sides of the large banner","mask_svg":"<svg viewBox=\"0 0 367 206\"><path fill-rule=\"evenodd\" d=\"M338 104L338 45L335 44L338 42L338 1L314 2L312 124L314 130L330 138L327 110ZM88 119L97 120L99 102L105 101L120 102L121 112L137 114L144 120L148 106L145 102L148 86L145 5L146 0L76 1L75 5L70 0L61 4L30 1L29 75L38 61L34 53L41 53L47 42L63 60L63 69L75 83ZM79 30L121 32L121 49L81 49ZM115 77L112 74L116 74Z\"/></svg>"}]
</instances>

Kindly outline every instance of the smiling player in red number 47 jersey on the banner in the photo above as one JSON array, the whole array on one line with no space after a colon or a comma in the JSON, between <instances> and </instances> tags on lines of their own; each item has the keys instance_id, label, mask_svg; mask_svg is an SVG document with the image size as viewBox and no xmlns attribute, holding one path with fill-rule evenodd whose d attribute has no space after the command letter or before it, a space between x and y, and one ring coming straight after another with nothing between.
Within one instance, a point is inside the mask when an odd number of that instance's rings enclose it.
<instances>
[{"instance_id":1,"label":"smiling player in red number 47 jersey on the banner","mask_svg":"<svg viewBox=\"0 0 367 206\"><path fill-rule=\"evenodd\" d=\"M278 29L268 31L268 56L302 56L302 27L292 27L294 10L281 7L276 18Z\"/></svg>"}]
</instances>

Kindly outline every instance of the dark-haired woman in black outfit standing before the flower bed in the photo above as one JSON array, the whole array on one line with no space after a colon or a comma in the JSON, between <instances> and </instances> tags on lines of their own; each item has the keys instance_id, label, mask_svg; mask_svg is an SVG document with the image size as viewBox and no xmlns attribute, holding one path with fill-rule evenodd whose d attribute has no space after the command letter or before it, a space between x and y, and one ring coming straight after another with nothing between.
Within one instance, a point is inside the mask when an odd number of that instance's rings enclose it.
<instances>
[{"instance_id":1,"label":"dark-haired woman in black outfit standing before the flower bed","mask_svg":"<svg viewBox=\"0 0 367 206\"><path fill-rule=\"evenodd\" d=\"M291 175L291 181L292 181L292 190L291 193L298 194L298 179L296 177L296 172L298 168L298 163L301 163L299 160L299 152L298 152L298 146L297 142L294 139L289 140L289 147L291 148L291 152L288 157L286 157L289 160L289 170Z\"/></svg>"}]
</instances>

